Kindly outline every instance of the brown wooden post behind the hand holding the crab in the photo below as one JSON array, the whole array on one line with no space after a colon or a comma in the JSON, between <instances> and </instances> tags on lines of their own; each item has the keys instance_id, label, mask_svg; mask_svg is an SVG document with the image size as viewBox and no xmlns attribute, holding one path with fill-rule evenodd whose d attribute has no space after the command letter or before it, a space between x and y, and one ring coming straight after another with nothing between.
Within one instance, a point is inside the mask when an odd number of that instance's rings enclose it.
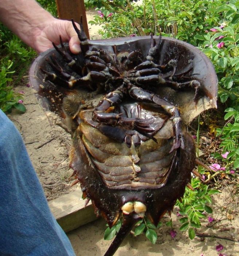
<instances>
[{"instance_id":1,"label":"brown wooden post behind the hand holding the crab","mask_svg":"<svg viewBox=\"0 0 239 256\"><path fill-rule=\"evenodd\" d=\"M74 19L75 22L79 23L81 21L82 16L83 28L88 39L90 39L84 0L56 0L56 5L58 16L60 19Z\"/></svg>"}]
</instances>

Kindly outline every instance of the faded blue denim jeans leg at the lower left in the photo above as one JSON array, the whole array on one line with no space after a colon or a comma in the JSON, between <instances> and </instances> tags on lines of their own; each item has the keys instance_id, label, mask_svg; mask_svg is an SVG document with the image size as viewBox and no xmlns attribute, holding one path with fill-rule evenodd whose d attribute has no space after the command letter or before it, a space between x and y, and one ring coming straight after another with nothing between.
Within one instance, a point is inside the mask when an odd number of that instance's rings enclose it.
<instances>
[{"instance_id":1,"label":"faded blue denim jeans leg at the lower left","mask_svg":"<svg viewBox=\"0 0 239 256\"><path fill-rule=\"evenodd\" d=\"M0 255L75 255L50 212L20 133L1 110Z\"/></svg>"}]
</instances>

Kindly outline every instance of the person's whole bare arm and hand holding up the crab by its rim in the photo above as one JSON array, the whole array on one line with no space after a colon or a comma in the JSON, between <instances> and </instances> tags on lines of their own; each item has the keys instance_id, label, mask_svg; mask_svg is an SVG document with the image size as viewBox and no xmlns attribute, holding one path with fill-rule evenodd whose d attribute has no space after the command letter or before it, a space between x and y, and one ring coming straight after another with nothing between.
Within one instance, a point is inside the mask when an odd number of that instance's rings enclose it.
<instances>
[{"instance_id":1,"label":"person's whole bare arm and hand holding up the crab by its rim","mask_svg":"<svg viewBox=\"0 0 239 256\"><path fill-rule=\"evenodd\" d=\"M52 48L52 42L59 44L59 35L71 52L81 49L72 23L54 18L35 0L0 0L0 21L37 52Z\"/></svg>"}]
</instances>

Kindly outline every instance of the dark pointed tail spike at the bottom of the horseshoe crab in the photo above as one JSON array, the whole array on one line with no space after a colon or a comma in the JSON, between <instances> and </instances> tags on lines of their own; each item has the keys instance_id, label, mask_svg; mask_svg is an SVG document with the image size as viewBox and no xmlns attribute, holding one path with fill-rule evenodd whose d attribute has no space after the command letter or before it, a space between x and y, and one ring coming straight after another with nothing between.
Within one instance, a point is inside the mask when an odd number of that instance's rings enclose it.
<instances>
[{"instance_id":1,"label":"dark pointed tail spike at the bottom of the horseshoe crab","mask_svg":"<svg viewBox=\"0 0 239 256\"><path fill-rule=\"evenodd\" d=\"M111 243L109 249L105 253L104 256L112 256L118 249L119 245L121 245L122 241L132 230L133 226L140 220L140 217L134 218L134 215L124 215L124 220L121 228L119 229L118 234L114 238L114 241Z\"/></svg>"}]
</instances>

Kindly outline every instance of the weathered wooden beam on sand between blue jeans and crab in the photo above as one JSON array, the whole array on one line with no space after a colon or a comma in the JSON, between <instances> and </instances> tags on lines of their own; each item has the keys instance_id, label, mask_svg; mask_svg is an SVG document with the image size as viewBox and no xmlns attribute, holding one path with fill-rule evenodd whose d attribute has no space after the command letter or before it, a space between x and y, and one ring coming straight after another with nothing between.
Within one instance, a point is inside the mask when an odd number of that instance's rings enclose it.
<instances>
[{"instance_id":1,"label":"weathered wooden beam on sand between blue jeans and crab","mask_svg":"<svg viewBox=\"0 0 239 256\"><path fill-rule=\"evenodd\" d=\"M48 205L65 232L97 219L91 202L85 207L80 189L52 200Z\"/></svg>"}]
</instances>

